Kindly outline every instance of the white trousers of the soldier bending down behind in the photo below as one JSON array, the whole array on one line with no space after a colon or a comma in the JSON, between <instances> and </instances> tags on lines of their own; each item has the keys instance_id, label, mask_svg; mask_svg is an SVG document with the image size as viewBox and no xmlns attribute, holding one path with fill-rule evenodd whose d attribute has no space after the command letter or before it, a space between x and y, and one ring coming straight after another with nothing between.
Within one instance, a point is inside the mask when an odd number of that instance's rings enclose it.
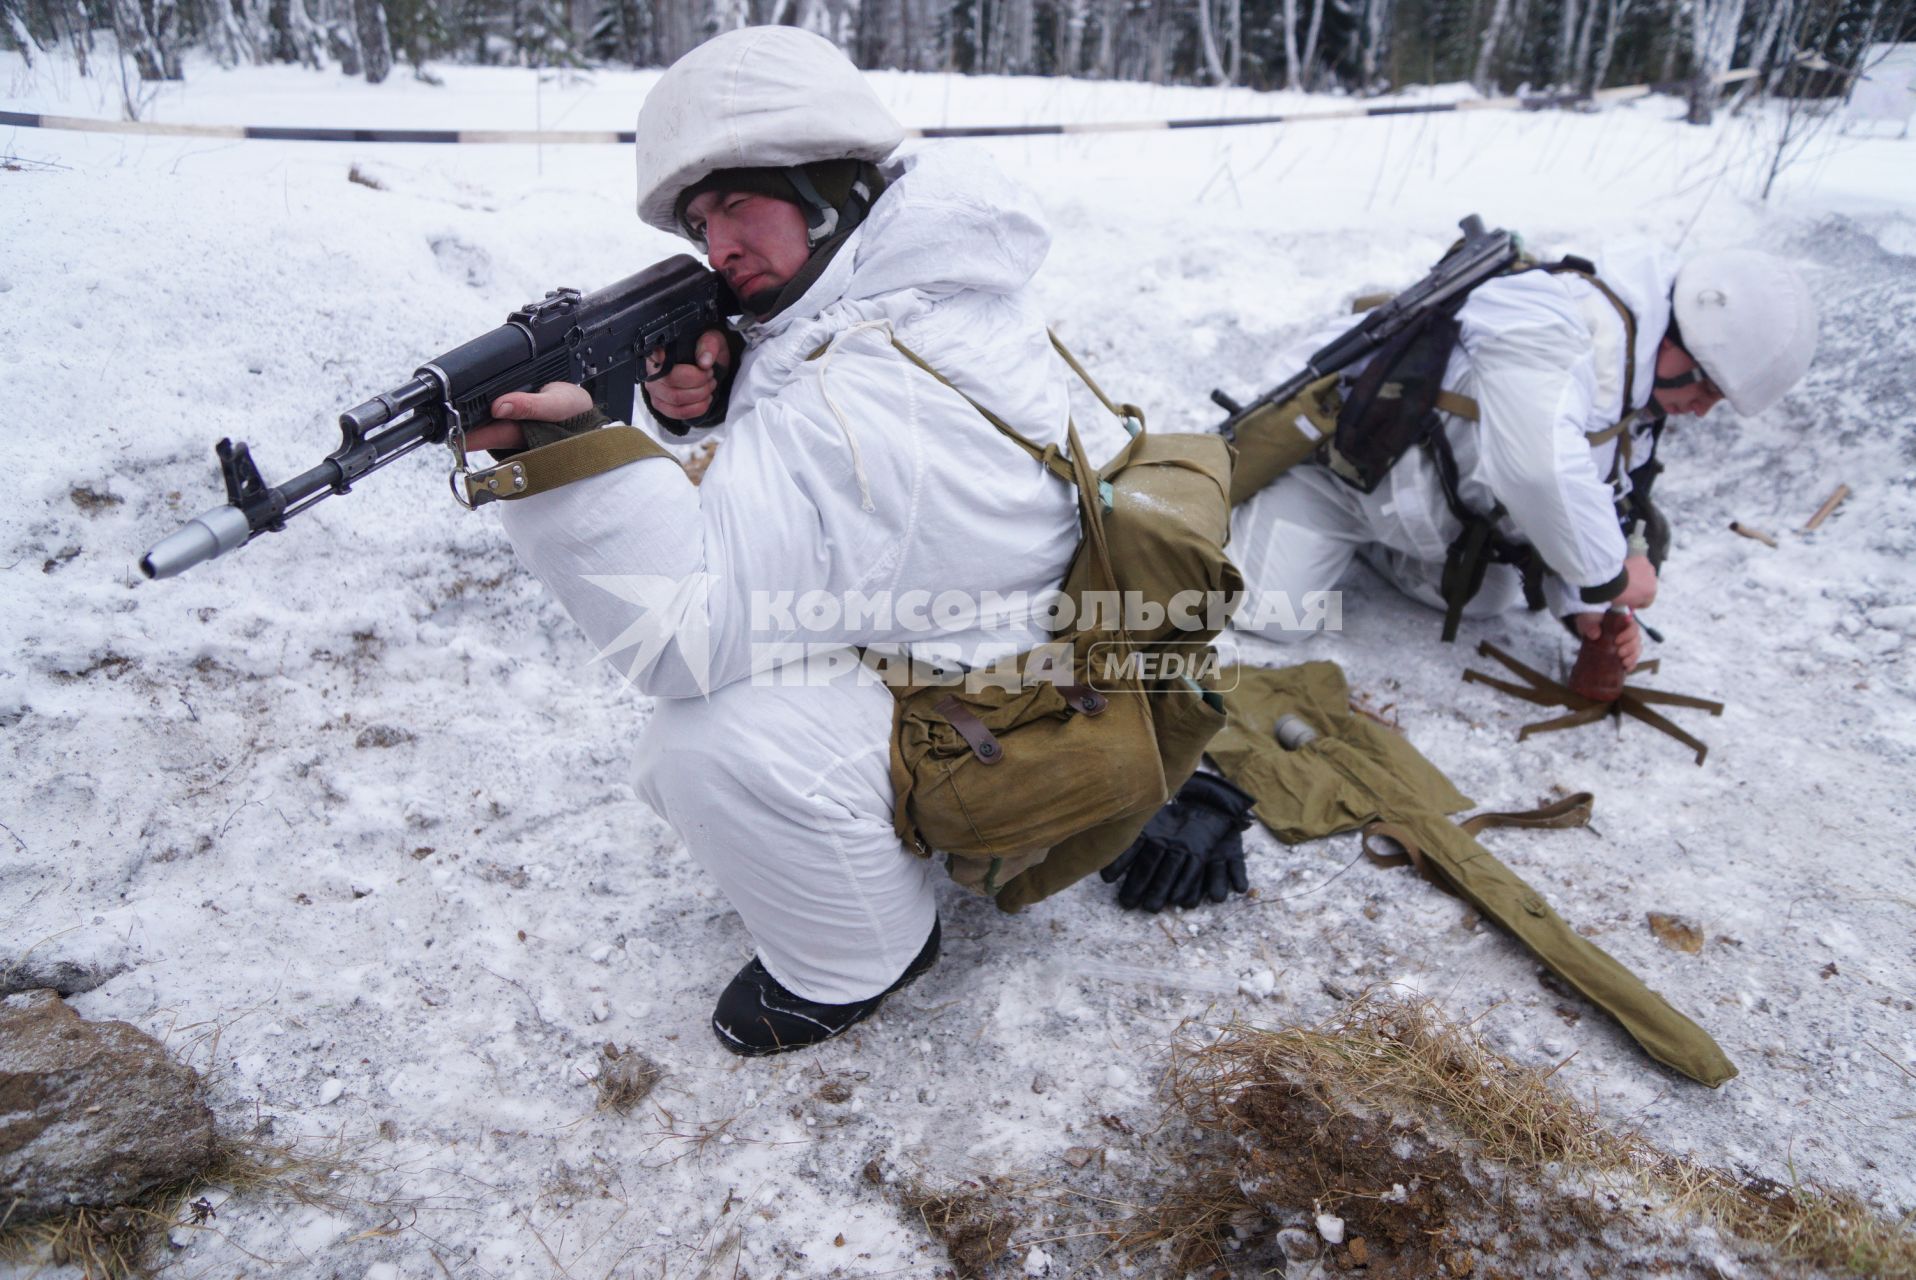
<instances>
[{"instance_id":1,"label":"white trousers of the soldier bending down behind","mask_svg":"<svg viewBox=\"0 0 1916 1280\"><path fill-rule=\"evenodd\" d=\"M1389 533L1374 525L1362 494L1324 468L1286 471L1232 512L1230 550L1253 596L1280 594L1289 598L1293 609L1240 609L1238 627L1280 642L1316 634L1314 627L1289 627L1272 619L1286 613L1305 617L1307 594L1335 588L1358 554L1418 604L1443 609L1443 563L1389 546ZM1483 590L1464 606L1464 617L1502 613L1521 602L1523 581L1517 571L1491 565L1483 575Z\"/></svg>"}]
</instances>

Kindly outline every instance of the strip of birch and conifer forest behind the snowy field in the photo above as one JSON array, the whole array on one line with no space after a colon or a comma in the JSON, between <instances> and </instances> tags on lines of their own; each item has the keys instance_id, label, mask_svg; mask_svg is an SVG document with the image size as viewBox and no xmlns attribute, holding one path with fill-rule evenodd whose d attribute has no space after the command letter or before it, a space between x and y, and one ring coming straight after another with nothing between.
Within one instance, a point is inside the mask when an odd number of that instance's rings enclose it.
<instances>
[{"instance_id":1,"label":"strip of birch and conifer forest behind the snowy field","mask_svg":"<svg viewBox=\"0 0 1916 1280\"><path fill-rule=\"evenodd\" d=\"M1349 94L1682 80L1705 121L1701 86L1730 67L1761 71L1736 102L1841 94L1870 44L1916 38L1916 0L0 0L0 48L142 80L178 79L182 52L203 50L377 82L395 65L431 79L431 61L663 67L768 23L868 69Z\"/></svg>"}]
</instances>

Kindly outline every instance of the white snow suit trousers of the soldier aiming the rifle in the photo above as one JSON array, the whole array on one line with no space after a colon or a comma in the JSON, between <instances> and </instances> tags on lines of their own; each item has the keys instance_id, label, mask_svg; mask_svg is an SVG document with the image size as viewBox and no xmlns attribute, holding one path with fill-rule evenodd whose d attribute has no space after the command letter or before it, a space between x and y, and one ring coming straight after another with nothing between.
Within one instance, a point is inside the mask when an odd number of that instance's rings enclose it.
<instances>
[{"instance_id":1,"label":"white snow suit trousers of the soldier aiming the rifle","mask_svg":"<svg viewBox=\"0 0 1916 1280\"><path fill-rule=\"evenodd\" d=\"M891 703L855 674L740 680L661 697L640 738L640 795L718 881L772 977L807 1000L878 994L937 914L935 864L891 830Z\"/></svg>"}]
</instances>

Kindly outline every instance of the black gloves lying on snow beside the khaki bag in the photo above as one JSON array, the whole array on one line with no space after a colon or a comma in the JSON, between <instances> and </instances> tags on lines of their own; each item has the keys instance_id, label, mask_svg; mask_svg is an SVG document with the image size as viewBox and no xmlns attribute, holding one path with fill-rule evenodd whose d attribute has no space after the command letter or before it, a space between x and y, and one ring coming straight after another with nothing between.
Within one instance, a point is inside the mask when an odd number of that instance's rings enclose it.
<instances>
[{"instance_id":1,"label":"black gloves lying on snow beside the khaki bag","mask_svg":"<svg viewBox=\"0 0 1916 1280\"><path fill-rule=\"evenodd\" d=\"M1123 878L1117 904L1161 912L1222 903L1251 887L1243 868L1243 828L1257 801L1217 774L1192 774L1159 809L1138 839L1104 868L1106 883Z\"/></svg>"}]
</instances>

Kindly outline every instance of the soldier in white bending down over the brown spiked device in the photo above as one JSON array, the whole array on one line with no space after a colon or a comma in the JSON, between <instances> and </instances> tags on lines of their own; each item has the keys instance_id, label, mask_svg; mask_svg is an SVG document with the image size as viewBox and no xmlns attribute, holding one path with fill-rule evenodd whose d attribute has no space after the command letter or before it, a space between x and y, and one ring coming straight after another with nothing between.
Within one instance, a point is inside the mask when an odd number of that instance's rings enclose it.
<instances>
[{"instance_id":1,"label":"soldier in white bending down over the brown spiked device","mask_svg":"<svg viewBox=\"0 0 1916 1280\"><path fill-rule=\"evenodd\" d=\"M1447 640L1458 617L1527 600L1634 667L1642 636L1627 611L1655 600L1669 544L1648 502L1667 416L1721 400L1745 416L1770 408L1809 368L1816 312L1795 268L1747 249L1678 266L1629 247L1588 266L1565 259L1470 293L1427 445L1368 492L1332 458L1243 500L1232 535L1247 586L1301 602L1362 552L1447 611ZM1621 625L1606 629L1606 611L1623 611Z\"/></svg>"}]
</instances>

